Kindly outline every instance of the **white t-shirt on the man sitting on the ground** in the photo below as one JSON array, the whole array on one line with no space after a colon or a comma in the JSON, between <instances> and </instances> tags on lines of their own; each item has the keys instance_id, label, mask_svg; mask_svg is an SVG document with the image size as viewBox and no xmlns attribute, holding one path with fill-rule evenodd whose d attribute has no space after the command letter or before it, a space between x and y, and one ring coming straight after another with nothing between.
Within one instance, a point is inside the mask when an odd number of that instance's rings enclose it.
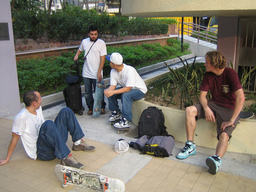
<instances>
[{"instance_id":1,"label":"white t-shirt on the man sitting on the ground","mask_svg":"<svg viewBox=\"0 0 256 192\"><path fill-rule=\"evenodd\" d=\"M36 115L28 112L26 108L21 109L12 125L12 132L20 135L22 144L28 156L36 160L36 141L41 125L44 123L42 107L36 110Z\"/></svg>"}]
</instances>

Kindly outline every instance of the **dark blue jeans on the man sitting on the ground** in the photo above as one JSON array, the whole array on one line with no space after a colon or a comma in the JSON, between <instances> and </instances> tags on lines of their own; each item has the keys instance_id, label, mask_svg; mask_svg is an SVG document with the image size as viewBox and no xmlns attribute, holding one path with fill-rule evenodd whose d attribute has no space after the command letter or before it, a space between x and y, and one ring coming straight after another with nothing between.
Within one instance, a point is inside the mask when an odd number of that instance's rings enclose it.
<instances>
[{"instance_id":1,"label":"dark blue jeans on the man sitting on the ground","mask_svg":"<svg viewBox=\"0 0 256 192\"><path fill-rule=\"evenodd\" d=\"M76 142L84 137L84 133L70 108L60 110L55 121L47 120L40 127L36 142L37 158L44 161L63 159L70 154L66 145L68 132L72 141Z\"/></svg>"}]
</instances>

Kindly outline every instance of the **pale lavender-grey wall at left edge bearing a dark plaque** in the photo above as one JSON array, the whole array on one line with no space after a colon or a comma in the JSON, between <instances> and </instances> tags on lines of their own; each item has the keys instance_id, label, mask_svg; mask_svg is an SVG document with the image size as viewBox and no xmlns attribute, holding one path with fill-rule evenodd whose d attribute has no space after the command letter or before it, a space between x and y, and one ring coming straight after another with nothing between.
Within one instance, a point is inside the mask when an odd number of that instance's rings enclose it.
<instances>
[{"instance_id":1,"label":"pale lavender-grey wall at left edge bearing a dark plaque","mask_svg":"<svg viewBox=\"0 0 256 192\"><path fill-rule=\"evenodd\" d=\"M8 23L9 39L0 41L0 117L20 111L20 93L12 32L12 15L9 0L2 0L0 23ZM1 27L1 32L3 32Z\"/></svg>"}]
</instances>

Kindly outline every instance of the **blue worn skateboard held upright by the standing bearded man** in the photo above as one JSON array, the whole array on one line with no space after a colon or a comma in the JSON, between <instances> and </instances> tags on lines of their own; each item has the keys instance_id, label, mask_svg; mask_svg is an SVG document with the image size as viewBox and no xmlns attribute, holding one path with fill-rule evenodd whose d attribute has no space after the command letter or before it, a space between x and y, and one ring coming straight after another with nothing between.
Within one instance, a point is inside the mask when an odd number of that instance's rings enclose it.
<instances>
[{"instance_id":1,"label":"blue worn skateboard held upright by the standing bearded man","mask_svg":"<svg viewBox=\"0 0 256 192\"><path fill-rule=\"evenodd\" d=\"M93 112L92 112L92 116L94 118L97 118L100 116L102 95L105 87L106 85L104 84L103 79L102 81L97 82L96 89L95 89L94 103L93 103Z\"/></svg>"}]
</instances>

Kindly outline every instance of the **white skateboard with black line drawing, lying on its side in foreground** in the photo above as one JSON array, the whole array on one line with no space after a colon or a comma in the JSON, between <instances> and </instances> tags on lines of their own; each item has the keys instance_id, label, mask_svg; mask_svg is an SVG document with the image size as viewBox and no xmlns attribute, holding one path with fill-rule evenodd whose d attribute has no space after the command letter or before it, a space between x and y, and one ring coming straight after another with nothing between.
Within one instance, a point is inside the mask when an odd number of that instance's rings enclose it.
<instances>
[{"instance_id":1,"label":"white skateboard with black line drawing, lying on its side in foreground","mask_svg":"<svg viewBox=\"0 0 256 192\"><path fill-rule=\"evenodd\" d=\"M125 190L125 184L121 180L74 167L57 164L55 166L55 173L63 183L63 188L67 188L68 184L70 184L101 192L124 192Z\"/></svg>"}]
</instances>

